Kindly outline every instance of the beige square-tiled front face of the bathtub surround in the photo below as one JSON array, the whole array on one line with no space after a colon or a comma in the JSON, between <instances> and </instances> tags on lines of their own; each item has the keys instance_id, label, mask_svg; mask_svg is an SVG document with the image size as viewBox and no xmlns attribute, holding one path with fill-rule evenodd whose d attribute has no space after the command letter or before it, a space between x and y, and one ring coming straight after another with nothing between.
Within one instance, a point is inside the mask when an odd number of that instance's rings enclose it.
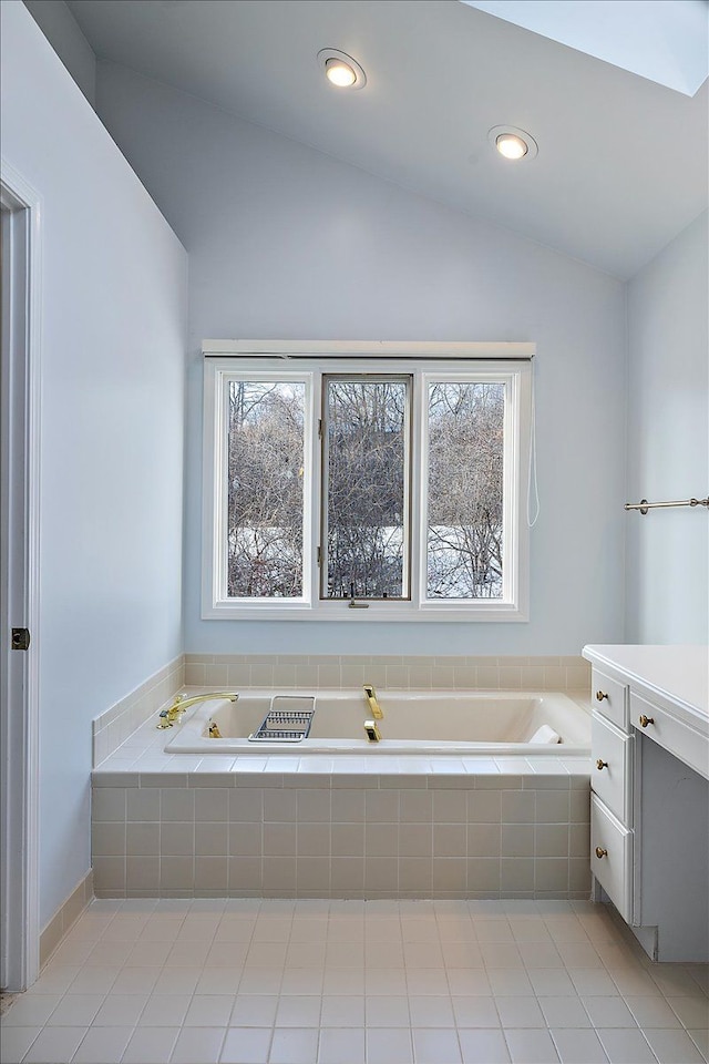
<instances>
[{"instance_id":1,"label":"beige square-tiled front face of the bathtub surround","mask_svg":"<svg viewBox=\"0 0 709 1064\"><path fill-rule=\"evenodd\" d=\"M94 773L94 890L587 898L587 765L520 776L469 767L481 774Z\"/></svg>"}]
</instances>

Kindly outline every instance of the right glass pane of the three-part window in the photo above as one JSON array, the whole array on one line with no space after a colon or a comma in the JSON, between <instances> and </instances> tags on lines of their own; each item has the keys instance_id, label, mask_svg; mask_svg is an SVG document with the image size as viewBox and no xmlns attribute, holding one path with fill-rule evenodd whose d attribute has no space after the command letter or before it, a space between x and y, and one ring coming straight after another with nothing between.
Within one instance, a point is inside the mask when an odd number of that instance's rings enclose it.
<instances>
[{"instance_id":1,"label":"right glass pane of the three-part window","mask_svg":"<svg viewBox=\"0 0 709 1064\"><path fill-rule=\"evenodd\" d=\"M429 598L502 597L505 386L429 389Z\"/></svg>"}]
</instances>

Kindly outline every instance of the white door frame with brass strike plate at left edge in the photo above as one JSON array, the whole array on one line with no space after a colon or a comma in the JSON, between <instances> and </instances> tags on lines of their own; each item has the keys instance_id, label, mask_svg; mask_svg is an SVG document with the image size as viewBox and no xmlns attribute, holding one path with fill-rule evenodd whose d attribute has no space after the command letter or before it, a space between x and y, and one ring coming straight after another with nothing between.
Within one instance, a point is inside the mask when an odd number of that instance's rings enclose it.
<instances>
[{"instance_id":1,"label":"white door frame with brass strike plate at left edge","mask_svg":"<svg viewBox=\"0 0 709 1064\"><path fill-rule=\"evenodd\" d=\"M40 410L42 200L2 158L0 181L9 323L3 324L4 573L0 743L2 773L3 989L25 990L40 968ZM9 247L6 245L8 242ZM6 428L7 426L7 428ZM7 544L7 546L6 546ZM10 628L30 630L27 652Z\"/></svg>"}]
</instances>

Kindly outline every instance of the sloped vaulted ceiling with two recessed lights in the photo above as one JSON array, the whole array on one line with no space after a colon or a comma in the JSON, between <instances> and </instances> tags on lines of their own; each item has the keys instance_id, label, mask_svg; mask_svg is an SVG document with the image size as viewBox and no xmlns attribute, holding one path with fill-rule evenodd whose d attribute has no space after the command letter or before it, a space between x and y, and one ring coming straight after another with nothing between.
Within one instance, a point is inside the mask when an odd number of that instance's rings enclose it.
<instances>
[{"instance_id":1,"label":"sloped vaulted ceiling with two recessed lights","mask_svg":"<svg viewBox=\"0 0 709 1064\"><path fill-rule=\"evenodd\" d=\"M689 96L459 0L68 0L100 60L619 277L707 206ZM367 72L337 90L332 47ZM503 160L497 125L536 158Z\"/></svg>"}]
</instances>

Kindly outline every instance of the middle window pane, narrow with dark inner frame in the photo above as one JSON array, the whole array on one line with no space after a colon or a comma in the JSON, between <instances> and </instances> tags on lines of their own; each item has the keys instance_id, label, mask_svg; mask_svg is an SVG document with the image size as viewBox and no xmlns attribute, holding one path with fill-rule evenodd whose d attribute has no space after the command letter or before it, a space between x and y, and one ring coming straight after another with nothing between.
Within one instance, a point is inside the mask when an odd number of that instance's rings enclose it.
<instances>
[{"instance_id":1,"label":"middle window pane, narrow with dark inner frame","mask_svg":"<svg viewBox=\"0 0 709 1064\"><path fill-rule=\"evenodd\" d=\"M405 380L326 385L327 598L408 594Z\"/></svg>"}]
</instances>

